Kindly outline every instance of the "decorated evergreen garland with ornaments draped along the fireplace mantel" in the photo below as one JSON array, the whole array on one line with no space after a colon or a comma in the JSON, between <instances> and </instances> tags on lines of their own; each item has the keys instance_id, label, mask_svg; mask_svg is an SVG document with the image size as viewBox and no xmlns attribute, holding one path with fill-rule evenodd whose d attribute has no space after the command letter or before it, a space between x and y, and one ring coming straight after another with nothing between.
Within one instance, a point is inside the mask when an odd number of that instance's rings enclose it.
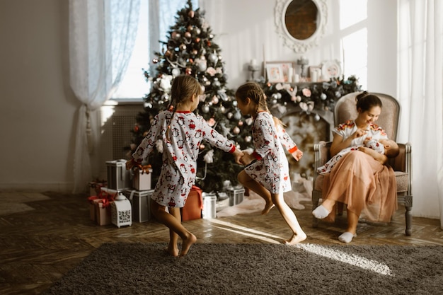
<instances>
[{"instance_id":1,"label":"decorated evergreen garland with ornaments draped along the fireplace mantel","mask_svg":"<svg viewBox=\"0 0 443 295\"><path fill-rule=\"evenodd\" d=\"M270 107L277 108L281 114L288 106L298 106L307 114L315 113L316 110L332 112L339 98L347 93L362 91L355 76L347 79L342 76L318 83L258 83L263 88Z\"/></svg>"}]
</instances>

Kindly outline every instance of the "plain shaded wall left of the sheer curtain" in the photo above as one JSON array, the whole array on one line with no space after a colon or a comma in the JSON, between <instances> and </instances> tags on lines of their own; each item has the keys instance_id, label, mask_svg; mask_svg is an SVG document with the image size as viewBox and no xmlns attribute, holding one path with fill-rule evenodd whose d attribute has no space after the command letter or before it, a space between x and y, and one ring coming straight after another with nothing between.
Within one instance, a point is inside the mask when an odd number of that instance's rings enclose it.
<instances>
[{"instance_id":1,"label":"plain shaded wall left of the sheer curtain","mask_svg":"<svg viewBox=\"0 0 443 295\"><path fill-rule=\"evenodd\" d=\"M67 0L0 1L0 189L67 190L74 113Z\"/></svg>"}]
</instances>

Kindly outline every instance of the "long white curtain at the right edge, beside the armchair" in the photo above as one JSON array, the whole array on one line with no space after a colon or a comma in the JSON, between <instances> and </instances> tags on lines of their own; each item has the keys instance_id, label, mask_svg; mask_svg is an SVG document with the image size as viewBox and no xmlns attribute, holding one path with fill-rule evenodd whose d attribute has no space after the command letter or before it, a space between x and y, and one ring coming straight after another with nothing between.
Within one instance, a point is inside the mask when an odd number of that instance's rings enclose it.
<instances>
[{"instance_id":1,"label":"long white curtain at the right edge, beside the armchair","mask_svg":"<svg viewBox=\"0 0 443 295\"><path fill-rule=\"evenodd\" d=\"M413 147L413 215L443 229L443 1L398 0L399 141Z\"/></svg>"}]
</instances>

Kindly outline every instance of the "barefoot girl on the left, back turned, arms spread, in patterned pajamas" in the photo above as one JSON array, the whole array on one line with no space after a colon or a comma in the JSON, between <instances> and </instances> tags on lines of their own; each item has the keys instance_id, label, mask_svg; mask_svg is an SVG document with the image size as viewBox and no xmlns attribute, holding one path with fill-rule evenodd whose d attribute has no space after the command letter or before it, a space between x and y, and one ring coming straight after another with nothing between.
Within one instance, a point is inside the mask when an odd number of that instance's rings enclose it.
<instances>
[{"instance_id":1,"label":"barefoot girl on the left, back turned, arms spread, in patterned pajamas","mask_svg":"<svg viewBox=\"0 0 443 295\"><path fill-rule=\"evenodd\" d=\"M127 169L139 166L152 151L157 139L163 141L163 166L151 196L155 201L151 202L151 211L157 220L169 228L168 253L173 256L179 255L178 236L183 241L180 256L186 255L190 246L197 241L181 224L180 208L185 205L195 183L202 140L206 139L210 145L234 154L237 163L243 156L243 152L236 149L231 141L209 127L203 117L192 112L197 108L202 92L200 83L191 76L181 75L173 79L170 107L156 115L146 137L126 163Z\"/></svg>"}]
</instances>

